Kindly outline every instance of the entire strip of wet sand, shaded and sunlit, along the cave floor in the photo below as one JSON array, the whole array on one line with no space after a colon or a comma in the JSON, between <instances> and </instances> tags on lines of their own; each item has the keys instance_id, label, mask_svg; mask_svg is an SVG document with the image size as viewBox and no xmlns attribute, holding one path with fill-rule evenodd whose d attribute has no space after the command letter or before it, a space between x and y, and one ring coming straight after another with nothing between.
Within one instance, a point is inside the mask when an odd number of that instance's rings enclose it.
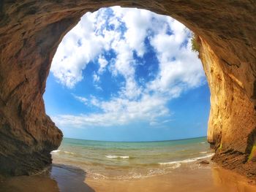
<instances>
[{"instance_id":1,"label":"entire strip of wet sand, shaded and sunlit, along the cave floor","mask_svg":"<svg viewBox=\"0 0 256 192\"><path fill-rule=\"evenodd\" d=\"M35 176L1 180L0 191L256 191L254 181L216 167L176 169L170 174L132 180L95 180L73 166L53 165L48 172Z\"/></svg>"}]
</instances>

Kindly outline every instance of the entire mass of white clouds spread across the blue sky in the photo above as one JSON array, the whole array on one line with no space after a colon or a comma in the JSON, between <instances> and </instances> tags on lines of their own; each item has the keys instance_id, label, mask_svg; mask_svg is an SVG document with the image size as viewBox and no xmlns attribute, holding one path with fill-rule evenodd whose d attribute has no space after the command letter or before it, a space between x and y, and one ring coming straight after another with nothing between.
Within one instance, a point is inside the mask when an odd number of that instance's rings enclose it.
<instances>
[{"instance_id":1,"label":"entire mass of white clouds spread across the blue sky","mask_svg":"<svg viewBox=\"0 0 256 192\"><path fill-rule=\"evenodd\" d=\"M116 17L109 18L108 23L114 30L102 27L106 19L104 9L87 13L64 37L50 70L59 82L73 88L83 79L86 64L96 60L99 69L92 74L95 87L102 89L97 83L106 70L113 77L118 74L124 77L124 85L108 101L95 96L89 99L75 96L83 104L98 107L102 112L57 115L53 120L58 126L116 126L135 121L148 121L151 126L158 126L168 122L165 118L170 118L167 107L170 99L205 81L202 65L197 54L191 51L189 31L184 25L142 9L112 9ZM120 30L123 23L127 31ZM154 80L142 86L135 80L138 64L134 53L143 57L147 51L146 37L157 53L159 72ZM111 61L102 53L108 50L116 53Z\"/></svg>"}]
</instances>

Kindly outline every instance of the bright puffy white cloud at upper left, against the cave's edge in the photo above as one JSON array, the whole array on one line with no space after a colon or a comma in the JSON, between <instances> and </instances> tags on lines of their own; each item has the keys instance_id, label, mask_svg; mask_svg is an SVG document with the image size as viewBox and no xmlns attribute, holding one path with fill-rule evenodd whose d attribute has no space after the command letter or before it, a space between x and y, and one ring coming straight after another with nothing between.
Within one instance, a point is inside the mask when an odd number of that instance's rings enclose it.
<instances>
[{"instance_id":1,"label":"bright puffy white cloud at upper left, against the cave's edge","mask_svg":"<svg viewBox=\"0 0 256 192\"><path fill-rule=\"evenodd\" d=\"M86 13L77 26L62 39L54 55L50 71L68 88L83 80L83 69L102 50L108 50L110 42L95 34L99 28L97 14ZM110 39L108 39L110 40Z\"/></svg>"}]
</instances>

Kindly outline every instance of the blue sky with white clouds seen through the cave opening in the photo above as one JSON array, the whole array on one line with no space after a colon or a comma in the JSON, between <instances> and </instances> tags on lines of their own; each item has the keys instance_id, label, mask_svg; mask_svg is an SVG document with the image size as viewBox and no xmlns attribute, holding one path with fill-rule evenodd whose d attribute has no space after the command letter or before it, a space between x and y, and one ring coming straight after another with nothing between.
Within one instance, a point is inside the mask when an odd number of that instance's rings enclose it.
<instances>
[{"instance_id":1,"label":"blue sky with white clouds seen through the cave opening","mask_svg":"<svg viewBox=\"0 0 256 192\"><path fill-rule=\"evenodd\" d=\"M177 20L144 9L87 12L54 55L47 114L68 138L206 136L210 93L191 37Z\"/></svg>"}]
</instances>

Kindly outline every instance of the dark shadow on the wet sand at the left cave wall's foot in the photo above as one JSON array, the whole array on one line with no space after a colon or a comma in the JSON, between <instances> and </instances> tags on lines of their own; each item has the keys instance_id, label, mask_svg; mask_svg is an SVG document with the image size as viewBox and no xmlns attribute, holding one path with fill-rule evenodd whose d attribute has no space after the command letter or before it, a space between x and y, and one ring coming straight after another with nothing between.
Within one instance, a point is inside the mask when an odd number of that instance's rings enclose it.
<instances>
[{"instance_id":1,"label":"dark shadow on the wet sand at the left cave wall's foot","mask_svg":"<svg viewBox=\"0 0 256 192\"><path fill-rule=\"evenodd\" d=\"M33 176L10 177L0 181L4 192L94 192L85 183L86 172L75 166L53 164L48 171Z\"/></svg>"}]
</instances>

